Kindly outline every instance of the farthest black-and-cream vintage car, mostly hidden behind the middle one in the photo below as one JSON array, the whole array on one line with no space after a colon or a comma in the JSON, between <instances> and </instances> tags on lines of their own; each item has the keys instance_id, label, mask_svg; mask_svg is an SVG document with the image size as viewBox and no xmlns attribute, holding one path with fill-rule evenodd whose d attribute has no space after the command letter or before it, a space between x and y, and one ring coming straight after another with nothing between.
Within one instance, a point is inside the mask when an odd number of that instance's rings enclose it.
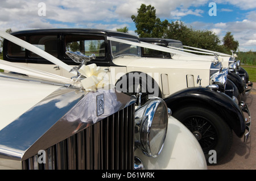
<instances>
[{"instance_id":1,"label":"farthest black-and-cream vintage car, mostly hidden behind the middle one","mask_svg":"<svg viewBox=\"0 0 256 181\"><path fill-rule=\"evenodd\" d=\"M209 61L220 60L223 68L228 68L228 79L234 84L234 91L238 91L241 96L246 96L250 94L253 87L253 83L249 81L249 75L245 69L241 67L240 60L236 60L237 55L232 52L232 55L225 54L221 52L215 52L212 50L206 50L196 47L189 47L183 45L179 40L173 39L158 39L158 38L140 38L141 41L146 43L151 43L155 45L160 45L163 47L168 47L176 50L182 50L185 52L197 54L203 54L201 57L208 58ZM160 57L160 58L174 58L178 60L189 60L190 57L183 56L181 54L170 54L167 52L161 52L156 50L148 50L147 48L142 48L143 57ZM190 58L191 59L191 58ZM231 84L231 83L229 83ZM230 87L227 89L230 90ZM240 95L236 95L240 99Z\"/></svg>"}]
</instances>

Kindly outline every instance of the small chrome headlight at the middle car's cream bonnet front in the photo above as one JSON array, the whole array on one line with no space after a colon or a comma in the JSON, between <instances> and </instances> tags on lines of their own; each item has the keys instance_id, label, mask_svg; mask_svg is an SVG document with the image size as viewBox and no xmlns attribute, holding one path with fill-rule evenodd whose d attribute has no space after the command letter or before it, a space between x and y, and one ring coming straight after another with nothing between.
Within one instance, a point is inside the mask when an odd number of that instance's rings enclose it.
<instances>
[{"instance_id":1,"label":"small chrome headlight at the middle car's cream bonnet front","mask_svg":"<svg viewBox=\"0 0 256 181\"><path fill-rule=\"evenodd\" d=\"M222 69L220 73L215 73L210 77L210 85L218 85L221 92L225 91L228 69Z\"/></svg>"}]
</instances>

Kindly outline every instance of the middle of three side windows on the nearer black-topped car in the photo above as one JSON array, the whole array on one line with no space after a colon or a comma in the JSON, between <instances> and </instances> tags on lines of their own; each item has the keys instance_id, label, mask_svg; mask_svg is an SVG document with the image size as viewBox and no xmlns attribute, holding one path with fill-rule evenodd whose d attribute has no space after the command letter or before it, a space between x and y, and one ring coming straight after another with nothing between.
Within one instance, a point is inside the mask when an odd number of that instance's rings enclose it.
<instances>
[{"instance_id":1,"label":"middle of three side windows on the nearer black-topped car","mask_svg":"<svg viewBox=\"0 0 256 181\"><path fill-rule=\"evenodd\" d=\"M32 35L29 37L29 43L46 51L52 56L58 56L58 39L57 35ZM30 57L40 57L38 54L30 52Z\"/></svg>"}]
</instances>

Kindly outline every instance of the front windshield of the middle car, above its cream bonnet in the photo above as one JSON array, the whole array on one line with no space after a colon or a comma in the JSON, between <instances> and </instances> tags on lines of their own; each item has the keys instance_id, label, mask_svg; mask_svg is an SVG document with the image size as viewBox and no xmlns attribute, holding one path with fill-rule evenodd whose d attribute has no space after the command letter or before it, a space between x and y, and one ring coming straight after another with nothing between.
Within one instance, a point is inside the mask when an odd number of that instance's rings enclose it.
<instances>
[{"instance_id":1,"label":"front windshield of the middle car, above its cream bonnet","mask_svg":"<svg viewBox=\"0 0 256 181\"><path fill-rule=\"evenodd\" d=\"M121 39L120 37L118 38ZM123 40L134 41L136 43L139 43L138 40L134 40L134 39L123 39ZM113 57L124 56L124 55L141 56L141 50L138 46L120 43L117 41L111 41L111 52Z\"/></svg>"}]
</instances>

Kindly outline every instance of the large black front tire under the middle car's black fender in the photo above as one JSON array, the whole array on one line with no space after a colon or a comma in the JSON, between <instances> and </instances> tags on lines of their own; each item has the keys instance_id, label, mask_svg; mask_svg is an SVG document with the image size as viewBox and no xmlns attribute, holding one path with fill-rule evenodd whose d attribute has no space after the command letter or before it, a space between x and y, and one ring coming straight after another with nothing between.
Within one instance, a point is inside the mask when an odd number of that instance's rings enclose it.
<instances>
[{"instance_id":1,"label":"large black front tire under the middle car's black fender","mask_svg":"<svg viewBox=\"0 0 256 181\"><path fill-rule=\"evenodd\" d=\"M231 148L232 129L215 112L199 106L181 108L173 113L197 138L209 164L210 150L216 151L217 161Z\"/></svg>"}]
</instances>

